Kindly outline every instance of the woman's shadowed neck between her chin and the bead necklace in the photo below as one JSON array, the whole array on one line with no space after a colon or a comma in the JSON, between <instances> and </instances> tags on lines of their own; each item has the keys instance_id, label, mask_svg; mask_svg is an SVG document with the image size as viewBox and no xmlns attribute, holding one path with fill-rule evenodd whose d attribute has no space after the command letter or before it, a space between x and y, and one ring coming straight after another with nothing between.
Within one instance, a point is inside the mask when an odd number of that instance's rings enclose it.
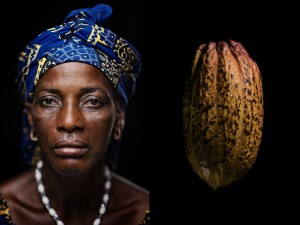
<instances>
[{"instance_id":1,"label":"woman's shadowed neck between her chin and the bead necklace","mask_svg":"<svg viewBox=\"0 0 300 225\"><path fill-rule=\"evenodd\" d=\"M62 211L97 212L104 192L103 171L104 165L97 164L82 175L61 175L44 162L42 173L45 193L53 207Z\"/></svg>"}]
</instances>

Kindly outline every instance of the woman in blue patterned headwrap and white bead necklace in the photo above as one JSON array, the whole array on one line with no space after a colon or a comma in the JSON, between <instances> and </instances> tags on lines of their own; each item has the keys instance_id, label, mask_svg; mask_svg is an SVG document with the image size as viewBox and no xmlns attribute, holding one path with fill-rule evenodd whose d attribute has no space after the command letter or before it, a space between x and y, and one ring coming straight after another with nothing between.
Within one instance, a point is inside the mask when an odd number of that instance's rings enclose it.
<instances>
[{"instance_id":1,"label":"woman in blue patterned headwrap and white bead necklace","mask_svg":"<svg viewBox=\"0 0 300 225\"><path fill-rule=\"evenodd\" d=\"M16 82L33 167L0 185L0 224L147 224L149 192L111 171L141 70L103 26L105 4L70 12L30 42Z\"/></svg>"}]
</instances>

